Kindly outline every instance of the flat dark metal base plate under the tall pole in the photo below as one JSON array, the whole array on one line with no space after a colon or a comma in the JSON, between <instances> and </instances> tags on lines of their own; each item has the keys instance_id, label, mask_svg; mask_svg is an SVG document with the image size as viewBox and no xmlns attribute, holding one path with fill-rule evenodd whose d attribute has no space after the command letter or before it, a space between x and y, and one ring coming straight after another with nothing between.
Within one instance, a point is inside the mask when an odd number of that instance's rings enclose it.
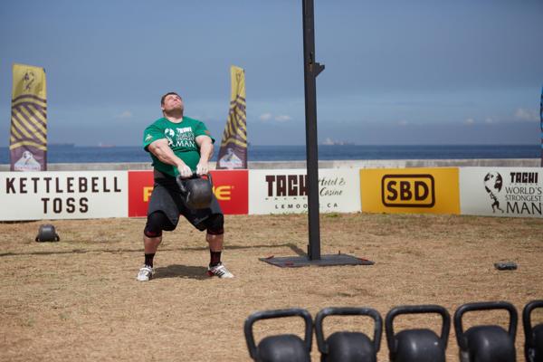
<instances>
[{"instance_id":1,"label":"flat dark metal base plate under the tall pole","mask_svg":"<svg viewBox=\"0 0 543 362\"><path fill-rule=\"evenodd\" d=\"M270 256L268 258L259 258L262 262L268 262L271 265L281 268L299 268L302 266L337 266L337 265L373 265L375 262L364 258L357 258L347 254L321 255L319 260L310 260L308 256Z\"/></svg>"}]
</instances>

